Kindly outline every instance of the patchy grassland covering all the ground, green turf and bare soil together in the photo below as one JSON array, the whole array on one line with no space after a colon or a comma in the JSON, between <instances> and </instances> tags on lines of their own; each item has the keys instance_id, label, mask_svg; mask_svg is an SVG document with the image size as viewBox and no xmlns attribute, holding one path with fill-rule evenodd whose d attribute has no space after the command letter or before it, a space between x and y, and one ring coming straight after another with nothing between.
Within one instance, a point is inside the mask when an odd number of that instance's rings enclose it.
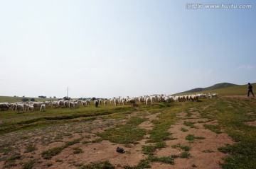
<instances>
[{"instance_id":1,"label":"patchy grassland covering all the ground, green turf and bare soil together","mask_svg":"<svg viewBox=\"0 0 256 169\"><path fill-rule=\"evenodd\" d=\"M223 161L220 159L215 166L255 168L256 127L247 123L256 121L256 100L237 96L246 95L246 91L246 86L208 91L219 93L220 97L197 103L48 107L46 112L30 113L1 111L0 166L178 168L181 164L176 159L180 158L188 161L188 168L202 168L207 166L207 154L214 158L215 154L223 153ZM12 103L16 99L21 98L0 97L1 102ZM201 135L201 131L215 136L227 134L233 144L195 149L195 145L209 141L208 134ZM127 151L119 155L114 149L117 146ZM168 153L172 151L180 153ZM159 155L160 152L164 155ZM201 163L198 153L206 154L206 164Z\"/></svg>"}]
</instances>

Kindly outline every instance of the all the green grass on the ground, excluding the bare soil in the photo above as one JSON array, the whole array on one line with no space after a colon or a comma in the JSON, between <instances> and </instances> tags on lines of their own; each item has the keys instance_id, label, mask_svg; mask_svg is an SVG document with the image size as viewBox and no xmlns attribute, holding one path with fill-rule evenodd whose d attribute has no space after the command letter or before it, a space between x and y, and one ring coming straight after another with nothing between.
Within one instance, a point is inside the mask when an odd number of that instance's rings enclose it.
<instances>
[{"instance_id":1,"label":"all the green grass on the ground, excluding the bare soil","mask_svg":"<svg viewBox=\"0 0 256 169\"><path fill-rule=\"evenodd\" d=\"M224 90L224 89L222 89ZM237 91L235 91L237 90ZM225 88L225 91L214 92L220 95L246 95L246 86L235 86ZM1 97L0 97L1 98ZM37 98L35 98L37 100ZM1 102L8 102L2 100ZM24 112L15 113L12 110L1 111L0 113L0 134L6 134L9 132L20 132L28 129L43 129L48 125L58 125L65 123L83 122L87 120L95 120L100 118L101 120L124 120L121 125L113 126L111 129L105 130L99 136L100 139L95 141L102 141L103 139L110 140L118 144L137 144L137 141L142 140L145 134L150 134L148 142L151 146L144 146L142 153L146 154L145 159L140 161L138 165L124 166L124 168L150 168L151 163L173 163L175 158L191 158L189 147L183 145L174 145L176 148L181 148L183 152L179 155L173 155L169 157L156 157L154 151L157 148L164 148L166 146L165 141L169 139L175 139L168 132L172 124L177 122L176 113L187 112L191 108L195 108L200 112L201 118L208 118L208 120L218 121L218 126L204 124L206 129L210 129L213 132L220 133L223 131L227 133L234 141L233 145L225 145L218 148L218 151L227 153L228 156L224 159L224 162L220 165L224 169L238 169L238 168L255 168L256 166L256 127L251 127L245 124L245 122L256 121L256 100L240 99L240 98L213 98L202 100L198 103L184 102L184 103L157 103L155 105L139 105L139 107L131 107L130 105L119 105L99 107L95 108L93 105L87 107L79 107L75 110L68 108L48 108L46 112ZM204 108L206 107L207 108ZM153 129L146 131L145 129L139 129L139 124L144 122L142 115L135 115L129 118L130 112L150 112L159 113L158 118L153 120ZM249 113L251 112L251 113ZM189 116L189 115L188 115ZM188 127L193 127L193 123L186 122ZM109 126L110 127L110 126ZM182 132L187 132L187 129L181 128ZM23 136L21 140L26 141L29 136ZM61 141L62 136L56 136L53 138L55 141ZM195 139L203 139L203 137L194 136L188 134L186 139L194 141ZM82 139L81 139L82 140ZM50 148L41 153L42 158L50 159L56 156L58 153L63 151L64 148L68 148L71 145L79 143L81 140L68 141L64 143L64 146L58 146ZM93 141L91 141L93 142ZM84 141L87 144L88 141ZM28 145L25 148L27 152L35 151L36 147ZM18 165L18 160L23 158L21 154L15 153L16 148L12 147L11 144L0 145L1 160L4 161L4 167L12 168ZM74 150L75 151L75 150ZM78 150L79 151L79 150ZM210 150L203 151L204 153L210 153ZM27 164L26 164L27 163ZM28 165L27 168L33 168L34 161L28 161L23 163L24 166ZM25 165L26 164L26 165ZM95 163L92 165L81 165L82 168L112 168L109 162ZM192 165L193 168L196 165Z\"/></svg>"}]
</instances>

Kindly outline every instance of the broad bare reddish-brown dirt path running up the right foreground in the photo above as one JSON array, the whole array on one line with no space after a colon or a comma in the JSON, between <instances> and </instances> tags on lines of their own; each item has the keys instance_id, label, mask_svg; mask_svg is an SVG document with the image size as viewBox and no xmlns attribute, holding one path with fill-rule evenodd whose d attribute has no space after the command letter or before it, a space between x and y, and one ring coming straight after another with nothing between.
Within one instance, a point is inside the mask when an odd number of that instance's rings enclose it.
<instances>
[{"instance_id":1,"label":"broad bare reddish-brown dirt path running up the right foreground","mask_svg":"<svg viewBox=\"0 0 256 169\"><path fill-rule=\"evenodd\" d=\"M203 124L216 124L216 121L209 121L208 119L201 118L199 112L190 111L191 117L186 117L185 112L178 113L180 120L172 125L169 132L176 139L166 141L168 147L158 151L157 156L171 156L184 152L181 148L172 148L174 145L188 146L191 148L191 158L177 158L174 165L166 165L161 163L154 163L152 168L221 168L219 163L223 162L222 159L226 156L220 153L218 148L225 144L233 144L232 139L227 134L216 134L203 127ZM193 123L192 126L187 126L184 122ZM181 130L185 131L182 132ZM203 137L205 139L195 139L194 141L186 140L188 134Z\"/></svg>"}]
</instances>

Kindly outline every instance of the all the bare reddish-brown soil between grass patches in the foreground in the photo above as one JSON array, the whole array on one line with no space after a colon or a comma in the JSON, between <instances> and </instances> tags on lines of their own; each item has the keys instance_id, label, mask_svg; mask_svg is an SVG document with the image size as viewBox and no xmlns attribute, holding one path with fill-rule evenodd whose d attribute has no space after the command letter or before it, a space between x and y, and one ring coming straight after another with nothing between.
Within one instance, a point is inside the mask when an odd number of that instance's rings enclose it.
<instances>
[{"instance_id":1,"label":"all the bare reddish-brown soil between grass patches in the foreground","mask_svg":"<svg viewBox=\"0 0 256 169\"><path fill-rule=\"evenodd\" d=\"M207 108L207 107L204 107ZM175 124L171 125L169 132L174 140L166 141L167 147L157 149L154 152L155 156L171 156L180 155L183 150L181 148L172 148L176 144L189 146L188 151L191 158L176 158L174 165L165 163L151 163L151 168L212 168L218 169L220 163L223 163L225 158L224 153L220 153L218 148L225 144L233 144L234 142L228 134L216 134L203 127L203 124L218 125L218 121L211 121L201 118L197 110L190 111L192 115L186 116L185 112L178 113L178 120ZM139 127L147 131L153 129L154 125L151 120L158 118L159 113L150 114L144 112L143 115L138 112L132 113L130 116L140 115L147 120L139 124ZM186 126L184 122L194 122L193 127ZM115 168L124 168L124 165L137 165L140 160L147 158L147 155L142 153L143 145L150 145L147 143L149 134L144 136L144 139L138 144L114 144L110 141L103 140L93 142L100 137L97 136L98 132L103 132L105 129L114 127L122 123L119 120L95 120L91 122L75 122L70 124L59 124L52 127L44 127L43 129L34 129L27 132L16 132L0 136L1 146L9 146L12 151L2 152L0 155L1 168L23 168L23 163L28 161L36 161L33 163L33 168L61 168L72 169L79 168L80 165L87 165L97 163L99 161L109 161ZM248 123L255 125L255 122ZM187 129L187 132L182 132L181 128ZM196 139L188 141L185 137L188 134L201 136L205 139ZM41 153L49 148L63 146L65 141L72 141L74 139L82 138L78 144L69 146L63 149L57 156L53 156L50 160L42 158ZM27 152L28 146L34 146L36 150ZM117 153L117 146L124 148L125 153ZM80 148L80 153L75 153L74 148ZM16 159L14 163L6 163L11 156L19 154L21 157Z\"/></svg>"}]
</instances>

